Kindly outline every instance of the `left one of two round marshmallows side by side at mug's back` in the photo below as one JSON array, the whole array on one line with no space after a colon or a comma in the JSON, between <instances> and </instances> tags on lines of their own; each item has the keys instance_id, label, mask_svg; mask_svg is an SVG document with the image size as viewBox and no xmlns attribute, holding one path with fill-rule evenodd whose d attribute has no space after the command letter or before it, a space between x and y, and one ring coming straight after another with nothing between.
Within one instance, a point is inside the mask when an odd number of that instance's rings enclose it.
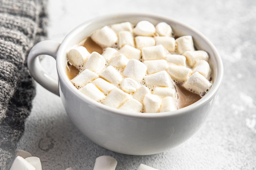
<instances>
[{"instance_id":1,"label":"left one of two round marshmallows side by side at mug's back","mask_svg":"<svg viewBox=\"0 0 256 170\"><path fill-rule=\"evenodd\" d=\"M155 34L155 26L148 21L140 21L134 28L135 35L153 36Z\"/></svg>"}]
</instances>

